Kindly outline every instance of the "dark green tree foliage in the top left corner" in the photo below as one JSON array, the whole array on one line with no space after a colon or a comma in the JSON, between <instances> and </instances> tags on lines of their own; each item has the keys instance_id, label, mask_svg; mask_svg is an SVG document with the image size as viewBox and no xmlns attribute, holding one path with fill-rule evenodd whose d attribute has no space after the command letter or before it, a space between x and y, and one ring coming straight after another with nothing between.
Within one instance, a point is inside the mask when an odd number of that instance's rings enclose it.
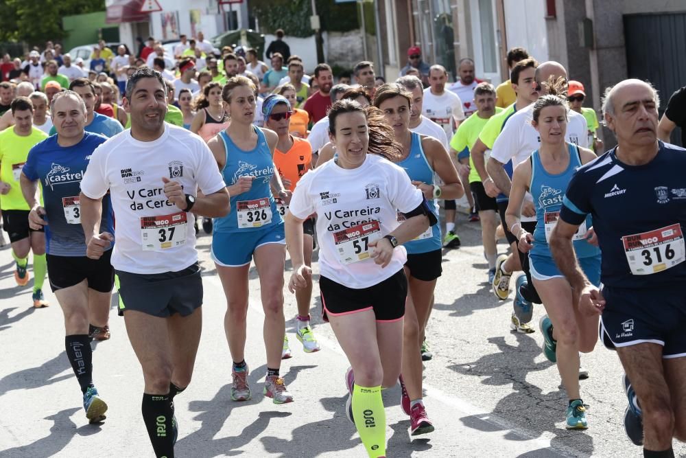
<instances>
[{"instance_id":1,"label":"dark green tree foliage in the top left corner","mask_svg":"<svg viewBox=\"0 0 686 458\"><path fill-rule=\"evenodd\" d=\"M0 41L43 45L64 38L62 16L105 10L105 0L2 0Z\"/></svg>"}]
</instances>

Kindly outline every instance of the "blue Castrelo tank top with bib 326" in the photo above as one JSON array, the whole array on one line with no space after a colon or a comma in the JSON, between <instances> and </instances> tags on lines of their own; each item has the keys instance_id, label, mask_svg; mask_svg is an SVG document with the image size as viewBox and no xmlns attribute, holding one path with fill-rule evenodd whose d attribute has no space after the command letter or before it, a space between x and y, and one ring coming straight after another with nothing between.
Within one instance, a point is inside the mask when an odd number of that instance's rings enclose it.
<instances>
[{"instance_id":1,"label":"blue Castrelo tank top with bib 326","mask_svg":"<svg viewBox=\"0 0 686 458\"><path fill-rule=\"evenodd\" d=\"M257 145L249 151L241 150L222 130L220 137L224 141L226 165L222 170L224 183L235 184L241 176L254 176L250 190L231 196L231 210L222 218L215 218L214 230L217 232L257 231L276 225L283 225L270 180L274 174L274 160L261 129L252 126L257 133Z\"/></svg>"}]
</instances>

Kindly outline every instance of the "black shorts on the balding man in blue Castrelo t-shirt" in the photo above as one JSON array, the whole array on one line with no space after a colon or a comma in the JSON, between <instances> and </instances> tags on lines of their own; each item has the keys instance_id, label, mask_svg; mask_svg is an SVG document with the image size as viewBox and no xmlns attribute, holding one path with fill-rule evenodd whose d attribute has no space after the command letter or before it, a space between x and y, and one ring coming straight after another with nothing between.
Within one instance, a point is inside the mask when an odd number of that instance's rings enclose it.
<instances>
[{"instance_id":1,"label":"black shorts on the balding man in blue Castrelo t-shirt","mask_svg":"<svg viewBox=\"0 0 686 458\"><path fill-rule=\"evenodd\" d=\"M99 293L110 293L115 284L115 269L110 264L112 250L105 251L99 260L86 256L55 256L47 254L47 275L53 293L88 282L88 288Z\"/></svg>"}]
</instances>

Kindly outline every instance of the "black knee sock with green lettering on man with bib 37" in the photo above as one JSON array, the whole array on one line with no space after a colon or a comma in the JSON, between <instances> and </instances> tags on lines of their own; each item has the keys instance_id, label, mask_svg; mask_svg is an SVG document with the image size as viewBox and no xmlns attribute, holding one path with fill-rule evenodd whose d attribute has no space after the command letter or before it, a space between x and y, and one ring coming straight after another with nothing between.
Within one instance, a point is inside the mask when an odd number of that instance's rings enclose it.
<instances>
[{"instance_id":1,"label":"black knee sock with green lettering on man with bib 37","mask_svg":"<svg viewBox=\"0 0 686 458\"><path fill-rule=\"evenodd\" d=\"M174 404L168 394L143 393L143 422L158 458L174 458Z\"/></svg>"}]
</instances>

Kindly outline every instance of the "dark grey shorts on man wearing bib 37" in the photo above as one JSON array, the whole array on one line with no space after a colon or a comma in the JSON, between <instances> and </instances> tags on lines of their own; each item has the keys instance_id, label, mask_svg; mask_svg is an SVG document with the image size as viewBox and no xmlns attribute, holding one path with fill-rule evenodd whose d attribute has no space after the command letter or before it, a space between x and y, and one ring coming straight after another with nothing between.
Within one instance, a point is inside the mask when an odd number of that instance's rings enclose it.
<instances>
[{"instance_id":1,"label":"dark grey shorts on man wearing bib 37","mask_svg":"<svg viewBox=\"0 0 686 458\"><path fill-rule=\"evenodd\" d=\"M121 299L119 308L124 313L138 310L154 317L167 318L175 313L187 317L202 305L202 278L198 262L178 272L116 273Z\"/></svg>"}]
</instances>

